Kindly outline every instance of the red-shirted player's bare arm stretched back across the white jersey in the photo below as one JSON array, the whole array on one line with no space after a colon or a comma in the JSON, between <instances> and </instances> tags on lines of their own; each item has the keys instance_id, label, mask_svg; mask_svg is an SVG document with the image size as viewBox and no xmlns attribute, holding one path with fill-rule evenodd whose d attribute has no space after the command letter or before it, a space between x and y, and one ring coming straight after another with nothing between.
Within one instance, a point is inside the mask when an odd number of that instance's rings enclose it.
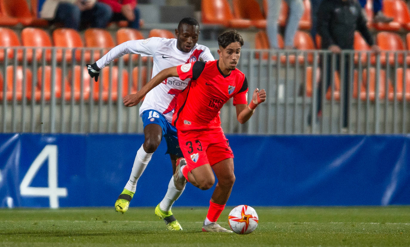
<instances>
[{"instance_id":1,"label":"red-shirted player's bare arm stretched back across the white jersey","mask_svg":"<svg viewBox=\"0 0 410 247\"><path fill-rule=\"evenodd\" d=\"M133 107L137 105L142 98L153 88L161 84L168 77L178 77L177 67L166 68L161 70L150 81L145 84L140 91L127 95L123 99L123 103L126 107Z\"/></svg>"}]
</instances>

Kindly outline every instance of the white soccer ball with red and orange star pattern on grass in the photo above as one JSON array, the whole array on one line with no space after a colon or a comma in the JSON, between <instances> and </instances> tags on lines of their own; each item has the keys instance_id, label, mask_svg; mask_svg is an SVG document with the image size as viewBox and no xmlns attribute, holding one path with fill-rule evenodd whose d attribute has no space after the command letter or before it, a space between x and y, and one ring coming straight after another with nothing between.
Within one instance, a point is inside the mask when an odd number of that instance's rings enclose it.
<instances>
[{"instance_id":1,"label":"white soccer ball with red and orange star pattern on grass","mask_svg":"<svg viewBox=\"0 0 410 247\"><path fill-rule=\"evenodd\" d=\"M229 227L238 234L248 234L255 231L258 221L255 209L248 205L236 206L228 215Z\"/></svg>"}]
</instances>

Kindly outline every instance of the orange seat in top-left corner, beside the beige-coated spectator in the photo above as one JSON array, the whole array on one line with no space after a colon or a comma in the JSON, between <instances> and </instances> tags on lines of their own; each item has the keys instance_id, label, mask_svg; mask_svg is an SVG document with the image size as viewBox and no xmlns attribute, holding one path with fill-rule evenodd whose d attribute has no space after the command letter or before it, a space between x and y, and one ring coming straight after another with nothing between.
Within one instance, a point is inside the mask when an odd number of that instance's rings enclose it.
<instances>
[{"instance_id":1,"label":"orange seat in top-left corner, beside the beige-coated spectator","mask_svg":"<svg viewBox=\"0 0 410 247\"><path fill-rule=\"evenodd\" d=\"M27 0L1 0L4 12L7 16L16 18L18 23L24 26L36 26L36 27L46 27L48 26L48 21L45 19L37 18L34 11L30 11ZM31 0L32 9L37 8L37 2Z\"/></svg>"}]
</instances>

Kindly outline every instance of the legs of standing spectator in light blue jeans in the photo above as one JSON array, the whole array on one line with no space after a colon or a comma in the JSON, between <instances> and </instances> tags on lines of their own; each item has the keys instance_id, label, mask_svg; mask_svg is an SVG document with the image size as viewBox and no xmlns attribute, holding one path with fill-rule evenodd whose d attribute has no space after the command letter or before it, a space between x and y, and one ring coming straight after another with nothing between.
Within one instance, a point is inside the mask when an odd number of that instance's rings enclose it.
<instances>
[{"instance_id":1,"label":"legs of standing spectator in light blue jeans","mask_svg":"<svg viewBox=\"0 0 410 247\"><path fill-rule=\"evenodd\" d=\"M294 49L294 37L298 30L299 20L304 11L302 0L285 0L289 6L289 17L285 27L285 49ZM266 34L271 48L278 49L278 19L282 0L268 0Z\"/></svg>"}]
</instances>

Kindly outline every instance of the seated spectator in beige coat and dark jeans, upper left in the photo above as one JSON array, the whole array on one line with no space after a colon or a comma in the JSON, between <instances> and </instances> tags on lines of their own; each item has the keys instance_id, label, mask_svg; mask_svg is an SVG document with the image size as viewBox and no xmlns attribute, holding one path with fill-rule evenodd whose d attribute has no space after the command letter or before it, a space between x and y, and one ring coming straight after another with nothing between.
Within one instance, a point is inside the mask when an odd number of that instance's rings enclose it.
<instances>
[{"instance_id":1,"label":"seated spectator in beige coat and dark jeans, upper left","mask_svg":"<svg viewBox=\"0 0 410 247\"><path fill-rule=\"evenodd\" d=\"M80 27L105 28L112 16L111 8L97 0L46 0L41 6L41 18L60 22L64 27L79 30Z\"/></svg>"}]
</instances>

